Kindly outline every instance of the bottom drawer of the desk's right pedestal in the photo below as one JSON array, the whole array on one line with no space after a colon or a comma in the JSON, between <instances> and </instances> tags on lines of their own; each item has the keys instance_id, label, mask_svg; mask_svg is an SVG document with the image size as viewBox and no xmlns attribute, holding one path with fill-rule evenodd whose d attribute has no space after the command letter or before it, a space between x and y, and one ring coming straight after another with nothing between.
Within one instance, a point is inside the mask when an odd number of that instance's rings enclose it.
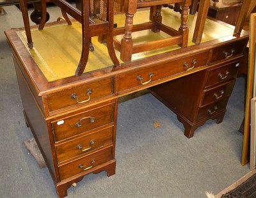
<instances>
[{"instance_id":1,"label":"bottom drawer of the desk's right pedestal","mask_svg":"<svg viewBox=\"0 0 256 198\"><path fill-rule=\"evenodd\" d=\"M226 109L228 103L228 97L219 100L218 102L207 105L198 110L196 121L204 118L211 118L214 114L220 112L220 110Z\"/></svg>"}]
</instances>

